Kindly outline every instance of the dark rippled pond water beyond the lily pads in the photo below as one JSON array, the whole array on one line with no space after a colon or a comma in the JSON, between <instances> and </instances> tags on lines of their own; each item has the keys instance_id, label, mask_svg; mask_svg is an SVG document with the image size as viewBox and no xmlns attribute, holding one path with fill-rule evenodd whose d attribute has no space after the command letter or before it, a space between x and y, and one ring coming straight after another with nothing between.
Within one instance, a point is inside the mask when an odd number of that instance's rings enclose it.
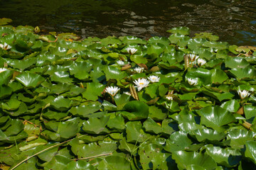
<instances>
[{"instance_id":1,"label":"dark rippled pond water beyond the lily pads","mask_svg":"<svg viewBox=\"0 0 256 170\"><path fill-rule=\"evenodd\" d=\"M12 26L85 37L169 36L176 26L210 32L235 45L256 46L256 0L0 0Z\"/></svg>"}]
</instances>

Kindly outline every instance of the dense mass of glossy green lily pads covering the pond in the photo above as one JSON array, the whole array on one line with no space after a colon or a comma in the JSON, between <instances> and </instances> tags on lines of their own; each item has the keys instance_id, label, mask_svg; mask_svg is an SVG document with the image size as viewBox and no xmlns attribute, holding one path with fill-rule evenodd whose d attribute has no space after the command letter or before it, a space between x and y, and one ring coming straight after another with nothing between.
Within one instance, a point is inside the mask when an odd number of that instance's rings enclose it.
<instances>
[{"instance_id":1,"label":"dense mass of glossy green lily pads covering the pond","mask_svg":"<svg viewBox=\"0 0 256 170\"><path fill-rule=\"evenodd\" d=\"M169 32L73 41L1 27L1 164L52 147L16 169L255 169L255 49Z\"/></svg>"}]
</instances>

